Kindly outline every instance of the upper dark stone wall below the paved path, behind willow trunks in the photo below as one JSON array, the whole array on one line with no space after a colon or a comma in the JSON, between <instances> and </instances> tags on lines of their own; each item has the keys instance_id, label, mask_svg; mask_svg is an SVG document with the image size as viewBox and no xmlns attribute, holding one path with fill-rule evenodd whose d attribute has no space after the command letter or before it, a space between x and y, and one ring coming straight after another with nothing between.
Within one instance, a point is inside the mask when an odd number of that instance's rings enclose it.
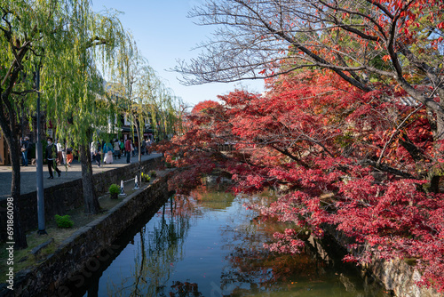
<instances>
[{"instance_id":1,"label":"upper dark stone wall below the paved path, behind willow trunks","mask_svg":"<svg viewBox=\"0 0 444 297\"><path fill-rule=\"evenodd\" d=\"M162 157L148 159L141 163L142 172L155 169L162 164ZM139 164L131 164L97 173L92 176L94 188L98 195L107 192L113 183L120 185L121 181L134 179ZM46 220L52 220L54 215L66 214L68 211L83 205L82 180L68 181L44 189L44 213ZM2 207L3 208L3 207ZM20 219L21 227L25 232L36 229L37 217L37 193L31 192L20 197ZM6 240L6 209L0 209L0 239Z\"/></svg>"}]
</instances>

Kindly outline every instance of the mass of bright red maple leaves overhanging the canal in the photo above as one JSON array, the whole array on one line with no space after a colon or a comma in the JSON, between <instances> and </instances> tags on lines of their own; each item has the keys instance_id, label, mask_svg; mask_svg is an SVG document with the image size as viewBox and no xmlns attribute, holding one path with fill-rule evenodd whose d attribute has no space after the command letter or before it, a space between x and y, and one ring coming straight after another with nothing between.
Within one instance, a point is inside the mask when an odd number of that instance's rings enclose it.
<instances>
[{"instance_id":1,"label":"mass of bright red maple leaves overhanging the canal","mask_svg":"<svg viewBox=\"0 0 444 297\"><path fill-rule=\"evenodd\" d=\"M400 104L404 93L387 86L366 93L329 72L270 85L266 96L232 92L219 97L223 104L194 108L188 132L157 148L178 167L171 186L186 192L217 172L232 177L234 191L279 189L274 204L259 208L298 229L276 234L270 249L297 253L300 230L321 237L334 228L354 239L346 261L416 259L420 283L444 290L436 182L444 158L425 108Z\"/></svg>"}]
</instances>

